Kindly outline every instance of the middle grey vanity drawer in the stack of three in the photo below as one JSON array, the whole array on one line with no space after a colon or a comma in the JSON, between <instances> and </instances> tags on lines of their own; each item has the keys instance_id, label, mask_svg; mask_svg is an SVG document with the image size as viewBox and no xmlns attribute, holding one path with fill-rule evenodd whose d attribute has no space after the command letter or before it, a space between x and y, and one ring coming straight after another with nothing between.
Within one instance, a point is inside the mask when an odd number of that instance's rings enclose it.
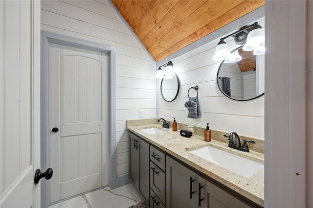
<instances>
[{"instance_id":1,"label":"middle grey vanity drawer in the stack of three","mask_svg":"<svg viewBox=\"0 0 313 208\"><path fill-rule=\"evenodd\" d=\"M165 204L165 173L150 161L150 188Z\"/></svg>"}]
</instances>

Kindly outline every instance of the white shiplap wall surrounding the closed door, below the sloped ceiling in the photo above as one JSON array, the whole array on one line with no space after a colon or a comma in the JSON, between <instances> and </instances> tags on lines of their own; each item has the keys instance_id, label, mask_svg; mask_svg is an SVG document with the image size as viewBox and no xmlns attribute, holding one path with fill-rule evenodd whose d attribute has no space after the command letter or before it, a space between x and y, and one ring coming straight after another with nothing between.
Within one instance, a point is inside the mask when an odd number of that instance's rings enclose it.
<instances>
[{"instance_id":1,"label":"white shiplap wall surrounding the closed door, below the sloped ceiling","mask_svg":"<svg viewBox=\"0 0 313 208\"><path fill-rule=\"evenodd\" d=\"M156 116L156 66L106 0L44 0L41 29L116 47L116 174L128 174L126 120Z\"/></svg>"}]
</instances>

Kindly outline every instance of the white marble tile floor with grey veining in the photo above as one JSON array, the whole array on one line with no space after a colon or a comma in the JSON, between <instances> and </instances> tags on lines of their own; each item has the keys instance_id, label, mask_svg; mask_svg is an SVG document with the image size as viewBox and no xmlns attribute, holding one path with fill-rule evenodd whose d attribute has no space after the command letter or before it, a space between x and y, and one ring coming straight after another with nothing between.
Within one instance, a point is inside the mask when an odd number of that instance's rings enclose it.
<instances>
[{"instance_id":1,"label":"white marble tile floor with grey veining","mask_svg":"<svg viewBox=\"0 0 313 208\"><path fill-rule=\"evenodd\" d=\"M49 208L128 208L141 202L132 184L101 188L49 206Z\"/></svg>"}]
</instances>

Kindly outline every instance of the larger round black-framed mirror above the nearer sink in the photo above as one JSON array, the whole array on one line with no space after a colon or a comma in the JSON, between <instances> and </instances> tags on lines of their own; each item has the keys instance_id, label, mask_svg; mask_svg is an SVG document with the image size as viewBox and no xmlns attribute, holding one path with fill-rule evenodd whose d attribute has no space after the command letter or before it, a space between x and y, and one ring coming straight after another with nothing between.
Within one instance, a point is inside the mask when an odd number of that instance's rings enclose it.
<instances>
[{"instance_id":1,"label":"larger round black-framed mirror above the nearer sink","mask_svg":"<svg viewBox=\"0 0 313 208\"><path fill-rule=\"evenodd\" d=\"M265 55L253 55L243 46L231 51L242 60L229 63L224 60L217 72L217 85L221 92L233 100L252 100L264 94Z\"/></svg>"}]
</instances>

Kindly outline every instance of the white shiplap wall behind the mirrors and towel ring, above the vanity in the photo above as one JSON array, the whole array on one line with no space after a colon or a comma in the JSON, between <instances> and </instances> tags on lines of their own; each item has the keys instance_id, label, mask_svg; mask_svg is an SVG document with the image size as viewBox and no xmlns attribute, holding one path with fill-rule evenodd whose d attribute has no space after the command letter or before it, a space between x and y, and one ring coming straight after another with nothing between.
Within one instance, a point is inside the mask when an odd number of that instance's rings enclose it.
<instances>
[{"instance_id":1,"label":"white shiplap wall behind the mirrors and towel ring, above the vanity","mask_svg":"<svg viewBox=\"0 0 313 208\"><path fill-rule=\"evenodd\" d=\"M264 25L264 18L258 22ZM225 41L228 41L229 51L238 47L231 38ZM220 62L213 61L212 57L218 42L219 40L212 41L171 60L179 76L180 90L176 100L166 102L160 95L160 80L158 81L159 117L176 117L177 122L202 127L209 122L210 128L214 130L228 133L235 131L239 135L264 139L264 96L249 101L235 101L224 96L217 86L216 76ZM187 118L184 103L188 99L188 89L196 85L199 86L201 118ZM197 95L194 90L189 92L190 96Z\"/></svg>"}]
</instances>

